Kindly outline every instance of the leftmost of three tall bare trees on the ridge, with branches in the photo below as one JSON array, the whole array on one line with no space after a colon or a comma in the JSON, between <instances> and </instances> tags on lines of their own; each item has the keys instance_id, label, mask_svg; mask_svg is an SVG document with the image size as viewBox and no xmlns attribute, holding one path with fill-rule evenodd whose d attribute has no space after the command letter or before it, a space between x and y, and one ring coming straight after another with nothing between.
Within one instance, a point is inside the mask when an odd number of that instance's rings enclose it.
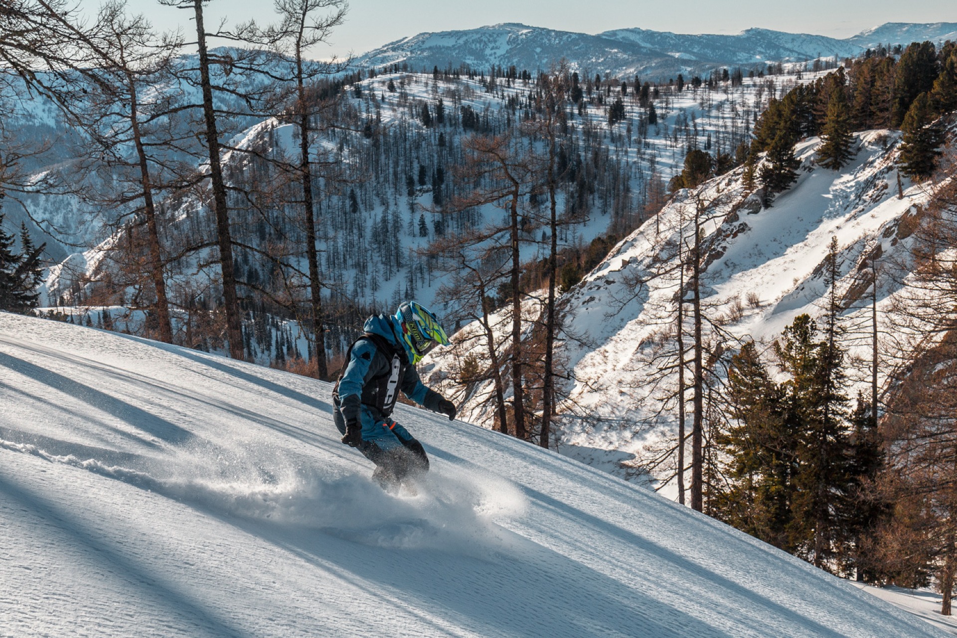
<instances>
[{"instance_id":1,"label":"leftmost of three tall bare trees on the ridge, with branches","mask_svg":"<svg viewBox=\"0 0 957 638\"><path fill-rule=\"evenodd\" d=\"M103 183L110 186L105 192L85 193L84 198L110 210L111 215L120 209L111 221L118 231L129 224L134 232L145 228L145 271L155 296L149 304L152 329L160 341L171 343L173 329L164 272L167 262L157 220L156 195L181 186L170 174L171 165L176 164L171 156L189 144L191 135L170 121L169 113L176 108L175 98L162 90L144 89L161 85L170 77L182 45L179 38L156 37L142 15L125 14L122 2L101 7L97 22L101 33L79 34L99 64L87 71L96 81L78 100L75 123L92 146L89 155L95 160L88 168L103 171ZM143 99L144 93L150 97ZM133 208L123 210L129 205ZM135 261L134 247L125 248L127 256ZM136 285L139 281L128 283Z\"/></svg>"}]
</instances>

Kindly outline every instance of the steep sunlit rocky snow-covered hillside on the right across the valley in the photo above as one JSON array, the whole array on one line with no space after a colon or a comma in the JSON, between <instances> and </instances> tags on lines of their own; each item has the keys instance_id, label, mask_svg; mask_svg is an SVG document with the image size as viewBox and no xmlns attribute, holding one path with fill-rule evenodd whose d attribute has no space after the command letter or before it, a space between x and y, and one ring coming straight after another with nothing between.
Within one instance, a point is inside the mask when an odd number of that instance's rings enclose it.
<instances>
[{"instance_id":1,"label":"steep sunlit rocky snow-covered hillside on the right across the valley","mask_svg":"<svg viewBox=\"0 0 957 638\"><path fill-rule=\"evenodd\" d=\"M707 209L701 230L709 255L702 274L702 304L723 330L767 344L797 315L819 316L829 290L822 264L832 237L839 249L837 289L847 308L847 324L871 325L862 299L870 298L873 280L862 275L867 271L863 264L877 253L881 268L905 268L900 265L907 263L907 229L913 224L902 220L915 218L931 189L899 178L899 132L865 131L856 141L855 159L840 171L815 164L818 138L799 143L797 182L770 208L746 188L744 168L695 190L679 190L655 218L622 240L568 292L562 302L576 337L560 345L559 357L571 380L564 388L568 398L560 418L563 453L631 475L642 458L674 438L677 409L671 405L662 411L660 397L674 391L677 373L660 374L659 366L667 363L657 357L663 343L674 337L674 316L669 313L679 289L675 247L681 237L686 242L694 236L698 202ZM879 283L881 325L893 297L901 293L893 281L905 275L888 271ZM466 326L456 340L465 342L477 329ZM849 376L863 387L868 368L857 364L857 369L853 362L855 355L867 360L869 341L866 336L852 339L849 347ZM455 370L470 352L478 351L436 350L427 369L435 383L459 393L469 418L492 427L492 407L483 404L489 386L463 389L455 383ZM850 396L854 394L852 389ZM672 488L663 489L671 493Z\"/></svg>"}]
</instances>

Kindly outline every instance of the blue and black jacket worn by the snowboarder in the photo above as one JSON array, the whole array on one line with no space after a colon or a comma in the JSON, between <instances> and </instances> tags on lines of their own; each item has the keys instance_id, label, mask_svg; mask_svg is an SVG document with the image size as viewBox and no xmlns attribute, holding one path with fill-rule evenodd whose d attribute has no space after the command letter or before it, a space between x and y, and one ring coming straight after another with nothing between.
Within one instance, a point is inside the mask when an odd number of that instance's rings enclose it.
<instances>
[{"instance_id":1,"label":"blue and black jacket worn by the snowboarder","mask_svg":"<svg viewBox=\"0 0 957 638\"><path fill-rule=\"evenodd\" d=\"M398 336L402 327L396 325L395 319L389 315L369 317L363 329L387 341L397 357L393 360L393 352L383 352L372 339L360 337L352 345L338 384L338 407L345 422L353 418L359 421L364 440L375 441L383 448L391 447L393 442L401 445L396 436L408 441L412 435L389 418L395 393L401 389L412 401L432 410L442 396L423 385L415 366L409 363L409 352ZM398 369L394 369L396 366ZM389 388L389 396L381 396L383 392L376 396L373 385L385 387L390 377L394 385Z\"/></svg>"}]
</instances>

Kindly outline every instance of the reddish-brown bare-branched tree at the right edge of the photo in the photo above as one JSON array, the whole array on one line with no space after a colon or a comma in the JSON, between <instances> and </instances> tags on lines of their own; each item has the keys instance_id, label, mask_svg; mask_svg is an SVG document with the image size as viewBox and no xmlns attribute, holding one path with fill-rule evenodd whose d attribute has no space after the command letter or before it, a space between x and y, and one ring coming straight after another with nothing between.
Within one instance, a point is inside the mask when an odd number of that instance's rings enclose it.
<instances>
[{"instance_id":1,"label":"reddish-brown bare-branched tree at the right edge of the photo","mask_svg":"<svg viewBox=\"0 0 957 638\"><path fill-rule=\"evenodd\" d=\"M951 178L955 166L947 164ZM881 423L886 495L898 505L879 550L907 539L917 545L910 564L901 567L900 557L884 551L886 562L904 573L933 573L941 613L950 615L957 586L957 185L943 182L927 208L905 221L912 245L898 270L909 275L897 282L903 287L888 313L894 342L887 358L897 365ZM911 511L901 516L905 507Z\"/></svg>"}]
</instances>

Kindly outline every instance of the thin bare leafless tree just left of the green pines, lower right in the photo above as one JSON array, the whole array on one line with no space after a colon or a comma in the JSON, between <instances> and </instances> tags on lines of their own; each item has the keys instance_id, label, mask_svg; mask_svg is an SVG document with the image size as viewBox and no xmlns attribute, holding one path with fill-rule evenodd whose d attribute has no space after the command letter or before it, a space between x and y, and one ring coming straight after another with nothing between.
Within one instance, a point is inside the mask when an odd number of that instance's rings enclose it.
<instances>
[{"instance_id":1,"label":"thin bare leafless tree just left of the green pines, lower right","mask_svg":"<svg viewBox=\"0 0 957 638\"><path fill-rule=\"evenodd\" d=\"M653 329L635 354L633 370L647 371L636 388L637 403L650 407L642 422L657 427L662 419L673 418L672 413L678 417L677 442L655 450L643 467L654 471L670 465L677 455L675 473L664 483L677 479L683 503L685 473L690 469L690 505L698 511L704 509L705 422L709 408L712 414L721 412L712 406L723 400L719 368L731 350L728 343L736 341L725 328L736 312L734 302L728 309L727 300L704 298L710 255L726 236L721 227L733 218L731 204L729 197L702 188L688 191L683 201L673 201L666 209L670 214L642 231L655 248L654 258L645 269L626 277L630 294L616 300L620 309L638 301L646 325ZM685 461L689 440L690 464Z\"/></svg>"}]
</instances>

